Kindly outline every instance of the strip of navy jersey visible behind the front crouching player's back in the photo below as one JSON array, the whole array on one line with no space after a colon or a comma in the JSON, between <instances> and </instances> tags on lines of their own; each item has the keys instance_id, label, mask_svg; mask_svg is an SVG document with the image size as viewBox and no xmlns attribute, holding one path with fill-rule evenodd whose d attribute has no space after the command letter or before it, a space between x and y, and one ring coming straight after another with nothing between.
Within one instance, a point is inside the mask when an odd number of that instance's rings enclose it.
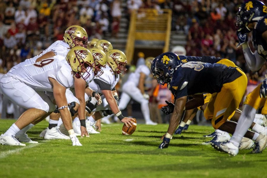
<instances>
[{"instance_id":1,"label":"strip of navy jersey visible behind the front crouching player's back","mask_svg":"<svg viewBox=\"0 0 267 178\"><path fill-rule=\"evenodd\" d=\"M178 56L180 61L182 63L187 63L187 62L206 62L206 63L217 63L222 59L225 58L220 58L220 57L215 57L215 56L202 56L202 57L198 57L198 56Z\"/></svg>"}]
</instances>

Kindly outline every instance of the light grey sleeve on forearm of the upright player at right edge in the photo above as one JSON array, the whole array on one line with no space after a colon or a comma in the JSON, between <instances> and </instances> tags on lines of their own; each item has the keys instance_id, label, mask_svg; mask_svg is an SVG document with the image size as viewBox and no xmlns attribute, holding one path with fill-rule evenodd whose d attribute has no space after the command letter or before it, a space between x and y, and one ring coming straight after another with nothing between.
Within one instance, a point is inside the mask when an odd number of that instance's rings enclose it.
<instances>
[{"instance_id":1,"label":"light grey sleeve on forearm of the upright player at right edge","mask_svg":"<svg viewBox=\"0 0 267 178\"><path fill-rule=\"evenodd\" d=\"M257 51L255 51L255 53L252 53L248 43L243 44L242 48L249 69L252 71L259 70L266 60L263 59Z\"/></svg>"}]
</instances>

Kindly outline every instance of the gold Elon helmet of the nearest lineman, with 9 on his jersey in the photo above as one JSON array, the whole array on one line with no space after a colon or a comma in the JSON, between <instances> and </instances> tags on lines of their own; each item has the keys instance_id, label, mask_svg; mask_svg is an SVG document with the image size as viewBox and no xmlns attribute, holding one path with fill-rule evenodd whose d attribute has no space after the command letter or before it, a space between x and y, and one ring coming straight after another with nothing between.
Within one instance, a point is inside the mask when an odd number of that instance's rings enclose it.
<instances>
[{"instance_id":1,"label":"gold Elon helmet of the nearest lineman, with 9 on his jersey","mask_svg":"<svg viewBox=\"0 0 267 178\"><path fill-rule=\"evenodd\" d=\"M82 77L86 80L90 76L90 70L94 70L95 63L92 53L81 46L71 48L66 56L76 78Z\"/></svg>"}]
</instances>

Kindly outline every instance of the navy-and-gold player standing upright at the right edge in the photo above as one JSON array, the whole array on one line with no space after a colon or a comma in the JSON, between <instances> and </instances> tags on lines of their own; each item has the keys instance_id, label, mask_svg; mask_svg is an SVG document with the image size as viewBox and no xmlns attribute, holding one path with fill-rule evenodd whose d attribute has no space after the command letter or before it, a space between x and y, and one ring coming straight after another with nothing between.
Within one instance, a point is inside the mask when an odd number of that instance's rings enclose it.
<instances>
[{"instance_id":1,"label":"navy-and-gold player standing upright at the right edge","mask_svg":"<svg viewBox=\"0 0 267 178\"><path fill-rule=\"evenodd\" d=\"M239 45L242 45L244 57L252 71L259 70L267 59L267 7L261 1L247 1L241 4L237 12L238 21L237 37ZM247 33L252 31L252 43L256 51L252 53L248 45ZM258 108L263 106L262 114L267 114L266 93L267 79L249 93L244 102L243 113L241 114L236 130L227 143L217 143L218 150L233 155L238 154L238 147L242 137L250 127ZM261 98L262 97L262 98ZM256 128L259 130L260 128ZM256 143L257 147L265 148L266 143ZM262 149L260 149L262 150Z\"/></svg>"}]
</instances>

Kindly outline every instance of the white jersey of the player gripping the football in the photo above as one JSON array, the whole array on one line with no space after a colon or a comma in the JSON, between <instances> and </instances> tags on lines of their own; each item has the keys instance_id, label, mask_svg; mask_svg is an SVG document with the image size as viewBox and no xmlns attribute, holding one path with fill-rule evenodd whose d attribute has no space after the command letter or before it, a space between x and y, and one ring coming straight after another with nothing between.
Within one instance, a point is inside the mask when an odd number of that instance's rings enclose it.
<instances>
[{"instance_id":1,"label":"white jersey of the player gripping the football","mask_svg":"<svg viewBox=\"0 0 267 178\"><path fill-rule=\"evenodd\" d=\"M102 93L101 90L112 90L120 80L120 75L114 74L109 66L106 65L106 68L102 67L101 69L104 73L95 77L89 84L89 87L98 93Z\"/></svg>"}]
</instances>

